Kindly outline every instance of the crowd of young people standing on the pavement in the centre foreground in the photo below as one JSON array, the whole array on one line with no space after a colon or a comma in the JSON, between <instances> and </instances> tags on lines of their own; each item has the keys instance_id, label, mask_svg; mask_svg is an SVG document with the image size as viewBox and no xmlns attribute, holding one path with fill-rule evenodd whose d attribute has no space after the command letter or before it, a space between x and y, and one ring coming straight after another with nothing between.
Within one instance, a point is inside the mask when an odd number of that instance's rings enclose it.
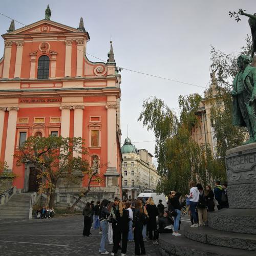
<instances>
[{"instance_id":1,"label":"crowd of young people standing on the pavement in the centre foreground","mask_svg":"<svg viewBox=\"0 0 256 256\"><path fill-rule=\"evenodd\" d=\"M168 216L167 211L164 212L164 206L161 200L159 201L156 206L152 198L148 198L145 202L142 199L120 201L115 198L114 202L104 199L101 203L97 202L97 207L92 202L88 202L83 209L83 236L90 236L94 219L93 229L99 227L101 233L99 247L101 254L109 254L105 249L106 241L109 241L109 244L113 245L111 255L121 250L121 255L124 256L128 242L135 243L135 255L144 255L146 234L157 244L159 232L172 231L173 219ZM159 228L157 228L157 216ZM100 226L97 225L98 220Z\"/></svg>"}]
</instances>

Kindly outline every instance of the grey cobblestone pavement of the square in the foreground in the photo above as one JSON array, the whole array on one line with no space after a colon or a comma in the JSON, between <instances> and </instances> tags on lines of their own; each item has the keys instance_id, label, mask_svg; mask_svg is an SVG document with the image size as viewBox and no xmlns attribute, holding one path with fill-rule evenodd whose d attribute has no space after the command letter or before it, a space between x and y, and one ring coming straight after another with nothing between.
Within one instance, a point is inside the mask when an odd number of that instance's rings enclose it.
<instances>
[{"instance_id":1,"label":"grey cobblestone pavement of the square in the foreground","mask_svg":"<svg viewBox=\"0 0 256 256\"><path fill-rule=\"evenodd\" d=\"M91 230L90 237L83 237L82 229L81 215L45 220L2 220L0 255L100 255L99 231ZM145 242L145 247L147 256L157 255L157 245L152 241ZM134 249L134 242L129 242L126 255L134 255ZM106 250L111 252L112 245L106 244Z\"/></svg>"}]
</instances>

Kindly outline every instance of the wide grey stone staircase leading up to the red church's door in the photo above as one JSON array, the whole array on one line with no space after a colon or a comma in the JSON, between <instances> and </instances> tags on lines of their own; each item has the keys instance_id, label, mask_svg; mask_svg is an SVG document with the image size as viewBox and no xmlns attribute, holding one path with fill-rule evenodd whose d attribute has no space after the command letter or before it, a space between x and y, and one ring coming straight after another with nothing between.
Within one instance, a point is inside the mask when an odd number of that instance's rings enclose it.
<instances>
[{"instance_id":1,"label":"wide grey stone staircase leading up to the red church's door","mask_svg":"<svg viewBox=\"0 0 256 256\"><path fill-rule=\"evenodd\" d=\"M28 219L32 194L15 194L6 204L0 205L0 219Z\"/></svg>"}]
</instances>

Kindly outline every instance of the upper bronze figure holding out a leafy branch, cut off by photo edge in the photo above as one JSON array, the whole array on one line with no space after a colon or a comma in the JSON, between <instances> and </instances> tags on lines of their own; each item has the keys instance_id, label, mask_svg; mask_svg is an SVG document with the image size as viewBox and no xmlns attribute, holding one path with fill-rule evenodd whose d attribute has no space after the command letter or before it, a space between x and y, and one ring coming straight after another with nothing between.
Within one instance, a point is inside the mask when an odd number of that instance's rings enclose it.
<instances>
[{"instance_id":1,"label":"upper bronze figure holding out a leafy branch, cut off by photo edge","mask_svg":"<svg viewBox=\"0 0 256 256\"><path fill-rule=\"evenodd\" d=\"M243 9L239 9L238 12L229 12L230 17L236 18L237 22L241 20L239 15L244 15L249 17L248 23L251 28L251 39L252 39L252 46L251 46L251 61L253 59L254 52L256 52L256 13L254 15L245 13Z\"/></svg>"}]
</instances>

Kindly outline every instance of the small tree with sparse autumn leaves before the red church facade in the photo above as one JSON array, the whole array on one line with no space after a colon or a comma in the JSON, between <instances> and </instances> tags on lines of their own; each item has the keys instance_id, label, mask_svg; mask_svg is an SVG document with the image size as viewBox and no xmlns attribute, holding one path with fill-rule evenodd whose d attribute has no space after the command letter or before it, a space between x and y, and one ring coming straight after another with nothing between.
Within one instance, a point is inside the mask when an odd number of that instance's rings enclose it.
<instances>
[{"instance_id":1,"label":"small tree with sparse autumn leaves before the red church facade","mask_svg":"<svg viewBox=\"0 0 256 256\"><path fill-rule=\"evenodd\" d=\"M48 194L47 205L53 207L56 184L60 177L75 181L75 172L80 172L84 176L97 176L96 173L91 173L89 162L81 157L87 154L87 148L84 147L81 138L37 136L29 137L19 147L15 157L17 166L26 161L34 164L39 173L37 178L42 181L39 183L38 191Z\"/></svg>"}]
</instances>

